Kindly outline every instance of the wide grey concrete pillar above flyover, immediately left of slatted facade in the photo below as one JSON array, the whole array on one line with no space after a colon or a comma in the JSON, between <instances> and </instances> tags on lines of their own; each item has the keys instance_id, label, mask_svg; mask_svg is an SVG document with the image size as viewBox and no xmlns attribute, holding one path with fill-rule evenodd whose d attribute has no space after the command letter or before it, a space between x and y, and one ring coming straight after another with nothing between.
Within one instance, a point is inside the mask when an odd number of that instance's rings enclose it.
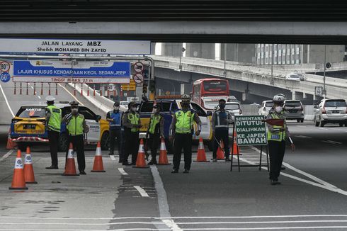
<instances>
[{"instance_id":1,"label":"wide grey concrete pillar above flyover, immediately left of slatted facade","mask_svg":"<svg viewBox=\"0 0 347 231\"><path fill-rule=\"evenodd\" d=\"M224 60L224 46L220 44L220 60ZM256 44L227 43L227 61L256 63Z\"/></svg>"}]
</instances>

